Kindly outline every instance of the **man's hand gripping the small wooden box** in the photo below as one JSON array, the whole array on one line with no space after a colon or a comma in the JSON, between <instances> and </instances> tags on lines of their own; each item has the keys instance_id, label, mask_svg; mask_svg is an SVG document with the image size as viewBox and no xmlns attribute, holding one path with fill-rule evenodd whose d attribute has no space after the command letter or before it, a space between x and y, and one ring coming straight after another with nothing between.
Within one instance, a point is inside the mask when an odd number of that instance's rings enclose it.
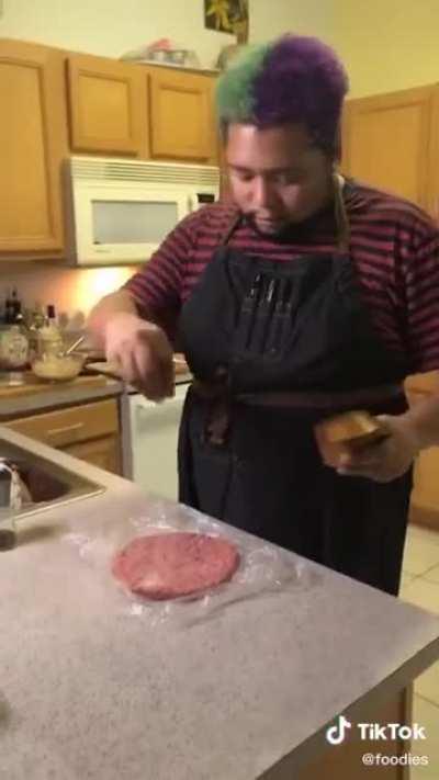
<instances>
[{"instance_id":1,"label":"man's hand gripping the small wooden box","mask_svg":"<svg viewBox=\"0 0 439 780\"><path fill-rule=\"evenodd\" d=\"M361 450L341 455L337 473L347 476L362 476L375 482L391 482L405 474L419 453L416 431L405 417L382 415L389 436L386 439Z\"/></svg>"}]
</instances>

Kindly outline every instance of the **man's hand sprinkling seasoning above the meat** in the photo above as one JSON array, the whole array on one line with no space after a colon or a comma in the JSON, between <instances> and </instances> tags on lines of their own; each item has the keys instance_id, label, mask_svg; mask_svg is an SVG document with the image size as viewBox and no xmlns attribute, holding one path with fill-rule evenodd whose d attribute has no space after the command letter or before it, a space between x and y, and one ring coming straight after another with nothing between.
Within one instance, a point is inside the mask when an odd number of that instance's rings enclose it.
<instances>
[{"instance_id":1,"label":"man's hand sprinkling seasoning above the meat","mask_svg":"<svg viewBox=\"0 0 439 780\"><path fill-rule=\"evenodd\" d=\"M173 396L172 348L165 331L135 314L114 315L105 328L105 355L117 373L151 400Z\"/></svg>"}]
</instances>

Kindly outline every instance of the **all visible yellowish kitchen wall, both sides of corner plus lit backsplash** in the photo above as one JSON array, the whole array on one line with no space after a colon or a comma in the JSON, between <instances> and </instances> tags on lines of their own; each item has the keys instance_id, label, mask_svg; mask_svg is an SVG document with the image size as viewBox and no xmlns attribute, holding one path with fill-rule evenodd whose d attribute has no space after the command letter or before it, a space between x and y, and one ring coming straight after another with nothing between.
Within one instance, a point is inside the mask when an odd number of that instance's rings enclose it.
<instances>
[{"instance_id":1,"label":"all visible yellowish kitchen wall, both sides of corner plus lit backsplash","mask_svg":"<svg viewBox=\"0 0 439 780\"><path fill-rule=\"evenodd\" d=\"M291 30L333 44L349 71L350 97L438 80L439 0L249 0L249 4L250 41ZM204 29L203 0L3 0L2 7L0 36L111 57L165 35L194 48L202 66L212 67L221 48L233 42L232 36ZM78 319L132 272L2 265L0 304L5 289L16 283L26 304L58 302Z\"/></svg>"}]
</instances>

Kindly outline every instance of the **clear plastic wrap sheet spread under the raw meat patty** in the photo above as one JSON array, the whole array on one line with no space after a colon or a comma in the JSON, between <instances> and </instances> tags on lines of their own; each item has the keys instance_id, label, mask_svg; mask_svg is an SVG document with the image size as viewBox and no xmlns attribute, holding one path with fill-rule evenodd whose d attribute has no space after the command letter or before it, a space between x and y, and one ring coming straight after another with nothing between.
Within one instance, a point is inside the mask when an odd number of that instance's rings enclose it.
<instances>
[{"instance_id":1,"label":"clear plastic wrap sheet spread under the raw meat patty","mask_svg":"<svg viewBox=\"0 0 439 780\"><path fill-rule=\"evenodd\" d=\"M240 562L232 579L196 595L162 601L136 596L115 579L112 574L114 556L128 542L137 536L176 531L221 536L235 544ZM108 587L114 589L116 609L154 623L196 623L209 620L233 603L309 585L309 568L301 558L166 499L147 499L144 511L136 516L124 517L121 513L117 520L102 518L98 522L76 522L68 530L66 539L76 545L81 558L97 576L103 577Z\"/></svg>"}]
</instances>

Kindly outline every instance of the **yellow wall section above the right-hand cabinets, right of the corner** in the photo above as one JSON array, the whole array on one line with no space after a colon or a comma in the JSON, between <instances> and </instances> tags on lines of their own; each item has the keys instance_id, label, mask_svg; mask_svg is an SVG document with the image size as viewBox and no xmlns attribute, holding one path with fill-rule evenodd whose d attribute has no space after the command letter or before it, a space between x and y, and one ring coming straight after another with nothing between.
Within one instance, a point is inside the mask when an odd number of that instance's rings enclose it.
<instances>
[{"instance_id":1,"label":"yellow wall section above the right-hand cabinets, right of the corner","mask_svg":"<svg viewBox=\"0 0 439 780\"><path fill-rule=\"evenodd\" d=\"M351 98L439 80L439 0L334 0L334 44Z\"/></svg>"}]
</instances>

